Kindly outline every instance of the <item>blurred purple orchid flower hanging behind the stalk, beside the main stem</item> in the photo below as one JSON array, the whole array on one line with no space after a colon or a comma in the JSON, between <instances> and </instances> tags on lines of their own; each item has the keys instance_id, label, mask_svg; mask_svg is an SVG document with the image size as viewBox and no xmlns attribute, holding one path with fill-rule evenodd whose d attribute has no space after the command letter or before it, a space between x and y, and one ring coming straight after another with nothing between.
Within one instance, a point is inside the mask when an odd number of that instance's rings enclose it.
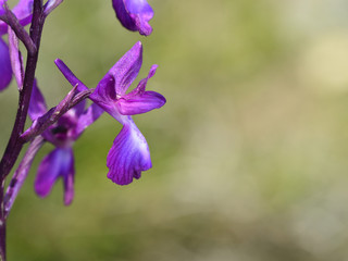
<instances>
[{"instance_id":1,"label":"blurred purple orchid flower hanging behind the stalk, beside the main stem","mask_svg":"<svg viewBox=\"0 0 348 261\"><path fill-rule=\"evenodd\" d=\"M98 119L94 115L94 107L85 110L85 100L69 110L58 122L45 130L41 136L55 148L41 161L35 179L35 191L46 197L58 178L62 177L64 185L64 203L67 206L74 198L74 154L72 146L84 129ZM29 105L29 116L35 123L47 111L45 99L36 82Z\"/></svg>"}]
</instances>

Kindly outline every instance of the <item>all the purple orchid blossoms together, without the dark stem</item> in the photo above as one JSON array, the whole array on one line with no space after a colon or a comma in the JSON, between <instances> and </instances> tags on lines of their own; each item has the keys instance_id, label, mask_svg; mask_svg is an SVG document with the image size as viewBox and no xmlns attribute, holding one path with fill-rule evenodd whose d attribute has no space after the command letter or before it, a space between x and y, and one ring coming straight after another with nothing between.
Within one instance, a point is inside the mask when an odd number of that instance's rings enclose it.
<instances>
[{"instance_id":1,"label":"all the purple orchid blossoms together, without the dark stem","mask_svg":"<svg viewBox=\"0 0 348 261\"><path fill-rule=\"evenodd\" d=\"M32 21L34 0L21 0L12 10L22 26ZM62 0L49 0L45 11L49 13ZM152 33L149 21L153 16L152 8L146 0L112 0L112 7L121 24L129 29L148 36ZM0 15L7 12L5 0L0 0ZM9 46L0 39L0 90L9 86L14 74L18 89L23 86L23 59L18 51L17 39L7 23L0 21L0 34L9 34ZM142 45L138 41L127 51L102 77L95 89L88 89L61 60L55 64L76 94L92 90L89 99L92 104L86 109L83 100L69 109L53 124L44 132L40 127L46 124L52 114L48 110L44 96L37 82L34 82L28 115L33 125L27 133L36 130L45 141L54 146L39 164L35 179L35 191L40 197L46 197L59 179L63 179L64 203L70 204L74 198L74 153L73 144L83 132L92 124L103 112L109 113L123 127L115 137L107 158L109 167L108 177L119 184L127 185L134 178L139 178L142 171L152 166L148 144L134 123L132 115L146 113L159 109L166 102L165 98L156 92L146 90L148 80L154 75L158 65L152 65L148 76L139 82L136 88L127 92L130 84L137 77L142 64ZM63 100L69 103L71 100Z\"/></svg>"}]
</instances>

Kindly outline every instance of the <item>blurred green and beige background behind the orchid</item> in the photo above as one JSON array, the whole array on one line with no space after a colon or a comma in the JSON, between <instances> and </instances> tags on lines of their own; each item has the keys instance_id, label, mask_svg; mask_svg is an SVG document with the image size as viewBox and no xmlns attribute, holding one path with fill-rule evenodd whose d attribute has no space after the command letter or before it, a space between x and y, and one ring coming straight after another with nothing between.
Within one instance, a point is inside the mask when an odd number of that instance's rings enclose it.
<instances>
[{"instance_id":1,"label":"blurred green and beige background behind the orchid","mask_svg":"<svg viewBox=\"0 0 348 261\"><path fill-rule=\"evenodd\" d=\"M15 1L12 1L15 2ZM103 115L75 144L75 199L38 198L30 175L9 217L9 260L348 260L348 1L149 0L153 34L125 30L111 1L69 1L48 18L37 78L53 107L136 41L161 110L135 116L153 167L105 174L121 125ZM138 82L138 80L137 80ZM135 87L135 85L133 85ZM16 88L0 96L1 152Z\"/></svg>"}]
</instances>

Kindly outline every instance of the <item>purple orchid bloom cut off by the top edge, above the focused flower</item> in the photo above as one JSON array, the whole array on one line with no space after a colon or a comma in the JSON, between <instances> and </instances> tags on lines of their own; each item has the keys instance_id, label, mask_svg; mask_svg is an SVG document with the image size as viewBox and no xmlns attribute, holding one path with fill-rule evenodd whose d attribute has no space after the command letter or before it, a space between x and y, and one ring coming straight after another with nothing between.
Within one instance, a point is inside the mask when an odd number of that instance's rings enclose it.
<instances>
[{"instance_id":1,"label":"purple orchid bloom cut off by the top edge, above the focused flower","mask_svg":"<svg viewBox=\"0 0 348 261\"><path fill-rule=\"evenodd\" d=\"M128 30L138 30L140 35L152 33L149 21L153 10L146 0L112 0L112 7L121 24Z\"/></svg>"}]
</instances>

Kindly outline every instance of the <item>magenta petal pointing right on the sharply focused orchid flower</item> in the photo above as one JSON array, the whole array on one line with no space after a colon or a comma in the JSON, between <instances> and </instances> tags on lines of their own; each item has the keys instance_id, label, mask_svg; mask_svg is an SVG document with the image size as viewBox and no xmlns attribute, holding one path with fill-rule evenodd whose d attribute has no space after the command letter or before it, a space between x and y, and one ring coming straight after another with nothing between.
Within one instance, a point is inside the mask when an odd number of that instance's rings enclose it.
<instances>
[{"instance_id":1,"label":"magenta petal pointing right on the sharply focused orchid flower","mask_svg":"<svg viewBox=\"0 0 348 261\"><path fill-rule=\"evenodd\" d=\"M145 91L141 96L135 96L128 100L121 98L117 101L117 109L123 115L134 115L159 109L164 104L165 98L162 95L154 91Z\"/></svg>"}]
</instances>

